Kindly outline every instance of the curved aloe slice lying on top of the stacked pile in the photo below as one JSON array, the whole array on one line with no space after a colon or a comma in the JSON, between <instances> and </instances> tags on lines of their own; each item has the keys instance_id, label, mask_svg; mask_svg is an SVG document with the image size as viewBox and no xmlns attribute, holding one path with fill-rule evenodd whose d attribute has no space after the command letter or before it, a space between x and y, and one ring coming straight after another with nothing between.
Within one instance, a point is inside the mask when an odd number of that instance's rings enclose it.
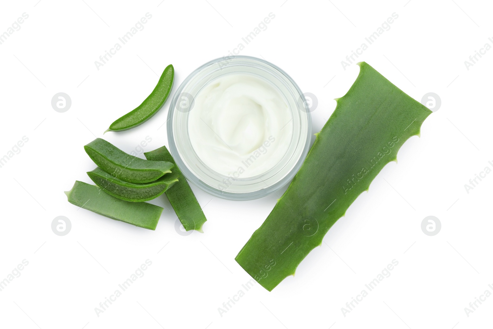
<instances>
[{"instance_id":1,"label":"curved aloe slice lying on top of the stacked pile","mask_svg":"<svg viewBox=\"0 0 493 329\"><path fill-rule=\"evenodd\" d=\"M171 173L174 166L170 162L149 161L127 154L101 138L84 146L84 149L98 167L129 183L153 182L164 174Z\"/></svg>"}]
</instances>

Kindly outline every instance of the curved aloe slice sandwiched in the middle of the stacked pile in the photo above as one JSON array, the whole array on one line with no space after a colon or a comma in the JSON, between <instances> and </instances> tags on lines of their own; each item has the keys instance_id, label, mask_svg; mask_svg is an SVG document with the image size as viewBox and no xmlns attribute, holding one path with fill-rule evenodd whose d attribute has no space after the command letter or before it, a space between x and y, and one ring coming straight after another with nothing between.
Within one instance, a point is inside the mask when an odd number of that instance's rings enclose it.
<instances>
[{"instance_id":1,"label":"curved aloe slice sandwiched in the middle of the stacked pile","mask_svg":"<svg viewBox=\"0 0 493 329\"><path fill-rule=\"evenodd\" d=\"M87 175L106 193L132 202L155 199L178 182L178 174L170 173L150 183L128 183L114 178L99 167L87 172Z\"/></svg>"}]
</instances>

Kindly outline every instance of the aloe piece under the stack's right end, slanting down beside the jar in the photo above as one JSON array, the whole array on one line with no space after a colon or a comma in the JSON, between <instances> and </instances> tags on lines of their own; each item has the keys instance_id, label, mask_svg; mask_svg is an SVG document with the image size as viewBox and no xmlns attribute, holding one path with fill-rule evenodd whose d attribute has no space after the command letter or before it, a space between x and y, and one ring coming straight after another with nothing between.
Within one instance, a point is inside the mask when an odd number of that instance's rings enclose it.
<instances>
[{"instance_id":1,"label":"aloe piece under the stack's right end, slanting down beside the jar","mask_svg":"<svg viewBox=\"0 0 493 329\"><path fill-rule=\"evenodd\" d=\"M175 160L166 146L160 147L150 152L144 153L148 160L167 161L175 165L173 173L178 174L178 183L173 185L173 188L168 189L165 193L170 200L176 215L180 220L185 230L197 230L202 232L202 225L206 222L206 216L200 208L197 198L193 194L190 185L188 185L185 177L176 166Z\"/></svg>"}]
</instances>

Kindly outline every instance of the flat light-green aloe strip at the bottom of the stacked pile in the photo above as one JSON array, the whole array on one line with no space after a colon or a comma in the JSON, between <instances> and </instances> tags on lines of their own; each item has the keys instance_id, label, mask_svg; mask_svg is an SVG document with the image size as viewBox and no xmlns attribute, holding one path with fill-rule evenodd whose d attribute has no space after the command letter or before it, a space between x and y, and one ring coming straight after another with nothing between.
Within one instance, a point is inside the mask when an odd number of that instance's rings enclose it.
<instances>
[{"instance_id":1,"label":"flat light-green aloe strip at the bottom of the stacked pile","mask_svg":"<svg viewBox=\"0 0 493 329\"><path fill-rule=\"evenodd\" d=\"M75 181L65 192L69 202L111 219L155 230L163 208L146 202L129 202L111 196L98 186Z\"/></svg>"}]
</instances>

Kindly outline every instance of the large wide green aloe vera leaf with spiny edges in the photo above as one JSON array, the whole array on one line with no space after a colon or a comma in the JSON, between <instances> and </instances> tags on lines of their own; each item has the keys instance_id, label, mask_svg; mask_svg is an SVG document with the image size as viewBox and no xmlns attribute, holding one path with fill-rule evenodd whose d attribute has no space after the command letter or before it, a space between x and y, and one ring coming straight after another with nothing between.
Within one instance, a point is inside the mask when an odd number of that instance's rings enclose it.
<instances>
[{"instance_id":1,"label":"large wide green aloe vera leaf with spiny edges","mask_svg":"<svg viewBox=\"0 0 493 329\"><path fill-rule=\"evenodd\" d=\"M370 65L359 67L292 183L235 258L268 291L294 275L431 113Z\"/></svg>"}]
</instances>

